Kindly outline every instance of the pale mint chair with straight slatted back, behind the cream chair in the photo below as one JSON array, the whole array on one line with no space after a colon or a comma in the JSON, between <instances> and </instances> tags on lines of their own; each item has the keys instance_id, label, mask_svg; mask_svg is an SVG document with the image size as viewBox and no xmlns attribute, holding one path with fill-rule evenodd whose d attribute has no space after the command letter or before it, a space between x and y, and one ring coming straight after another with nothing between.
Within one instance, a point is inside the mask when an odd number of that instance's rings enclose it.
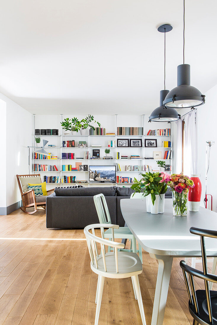
<instances>
[{"instance_id":1,"label":"pale mint chair with straight slatted back, behind the cream chair","mask_svg":"<svg viewBox=\"0 0 217 325\"><path fill-rule=\"evenodd\" d=\"M108 211L108 205L106 203L105 196L103 194L94 195L94 204L95 204L96 212L98 214L99 222L103 224L111 224L111 218ZM105 237L112 238L111 229L105 231ZM121 251L134 252L134 253L137 252L136 239L128 227L119 227L118 229L115 229L114 238L131 239L130 250L125 250L123 248ZM138 249L139 258L142 262L142 248L140 244L138 244L138 248L139 248ZM108 252L110 252L110 247L108 247Z\"/></svg>"}]
</instances>

